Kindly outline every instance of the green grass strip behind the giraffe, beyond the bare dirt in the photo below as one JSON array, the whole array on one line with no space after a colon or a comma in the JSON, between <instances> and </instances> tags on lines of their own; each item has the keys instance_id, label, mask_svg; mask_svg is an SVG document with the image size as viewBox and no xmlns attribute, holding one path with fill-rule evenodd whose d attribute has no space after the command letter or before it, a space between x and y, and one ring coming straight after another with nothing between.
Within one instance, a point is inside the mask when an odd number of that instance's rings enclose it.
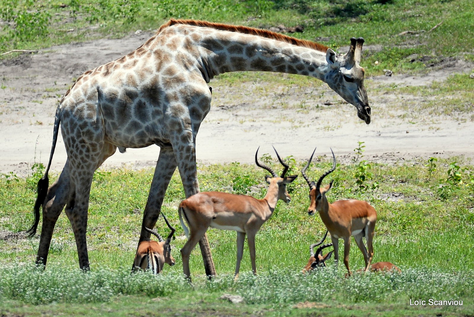
<instances>
[{"instance_id":1,"label":"green grass strip behind the giraffe, beyond the bare dirt","mask_svg":"<svg viewBox=\"0 0 474 317\"><path fill-rule=\"evenodd\" d=\"M171 17L262 28L300 24L304 32L292 36L333 48L348 46L350 37L365 37L366 45L382 45L380 51L364 53L366 75L426 69L423 62L406 60L413 54L430 63L464 53L474 60L474 30L469 27L474 8L469 0L7 0L0 5L0 50L123 37L137 29L154 30ZM398 35L407 30L417 34Z\"/></svg>"}]
</instances>

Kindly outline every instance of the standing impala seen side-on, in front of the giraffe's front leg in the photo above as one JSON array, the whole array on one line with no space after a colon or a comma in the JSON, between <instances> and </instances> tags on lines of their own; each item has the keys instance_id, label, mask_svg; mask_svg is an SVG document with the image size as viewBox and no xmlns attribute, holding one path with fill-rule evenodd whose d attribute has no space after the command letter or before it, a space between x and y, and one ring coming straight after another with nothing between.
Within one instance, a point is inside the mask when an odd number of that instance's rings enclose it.
<instances>
[{"instance_id":1,"label":"standing impala seen side-on, in front of the giraffe's front leg","mask_svg":"<svg viewBox=\"0 0 474 317\"><path fill-rule=\"evenodd\" d=\"M274 149L274 148L273 148ZM263 199L256 199L246 195L234 195L219 192L201 192L181 202L179 205L179 219L181 226L188 237L188 241L181 249L182 267L186 277L191 280L189 271L189 256L196 243L206 233L209 227L221 230L237 231L237 263L235 277L238 276L240 261L244 251L244 240L247 234L248 249L252 262L252 271L255 267L255 233L260 230L273 214L279 199L290 202L290 195L286 184L291 183L298 175L285 177L289 166L283 162L278 153L275 153L283 165L283 172L278 176L271 168L260 164L257 160L258 149L255 152L255 164L269 171L272 176L265 177L269 184L268 191ZM183 222L189 226L189 230Z\"/></svg>"}]
</instances>

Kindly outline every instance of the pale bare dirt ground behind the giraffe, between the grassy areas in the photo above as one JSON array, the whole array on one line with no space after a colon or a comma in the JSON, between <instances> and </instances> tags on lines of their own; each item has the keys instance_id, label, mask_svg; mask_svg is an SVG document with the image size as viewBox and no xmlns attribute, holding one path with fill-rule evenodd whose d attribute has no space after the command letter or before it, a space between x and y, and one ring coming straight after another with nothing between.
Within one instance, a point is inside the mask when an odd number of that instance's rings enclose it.
<instances>
[{"instance_id":1,"label":"pale bare dirt ground behind the giraffe, between the grassy areas","mask_svg":"<svg viewBox=\"0 0 474 317\"><path fill-rule=\"evenodd\" d=\"M0 173L24 176L30 173L34 162L46 165L56 105L73 79L127 54L152 35L142 33L121 39L62 45L0 61ZM364 65L364 61L362 65L370 67ZM471 160L474 158L471 120L407 115L401 111L403 104L416 104L417 97L396 93L371 96L371 89L387 84L427 85L472 69L473 65L451 60L426 75L367 78L365 85L372 107L370 125L357 118L352 105L344 103L316 79L313 89L256 82L232 86L219 84L221 80L217 78L210 83L213 100L198 134L197 159L204 164L250 163L258 146L262 146L263 154L273 153L271 145L274 145L282 156L293 155L297 159L307 159L315 146L318 155L330 153L329 147L332 147L344 161L357 147L357 141L364 141L366 158L372 161L454 155ZM335 104L325 105L328 101ZM410 112L410 107L408 109ZM158 153L157 146L127 149L126 153L117 151L104 167L154 166ZM60 170L65 160L60 139L52 168Z\"/></svg>"}]
</instances>

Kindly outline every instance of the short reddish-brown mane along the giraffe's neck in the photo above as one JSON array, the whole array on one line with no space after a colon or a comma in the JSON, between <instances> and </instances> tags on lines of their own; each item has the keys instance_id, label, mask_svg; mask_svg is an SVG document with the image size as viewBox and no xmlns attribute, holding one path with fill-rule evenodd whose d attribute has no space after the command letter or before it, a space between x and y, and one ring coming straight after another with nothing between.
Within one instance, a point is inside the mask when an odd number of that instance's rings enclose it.
<instances>
[{"instance_id":1,"label":"short reddish-brown mane along the giraffe's neck","mask_svg":"<svg viewBox=\"0 0 474 317\"><path fill-rule=\"evenodd\" d=\"M269 30L264 30L260 28L250 28L250 27L245 27L245 26L237 26L237 25L230 25L230 24L224 24L224 23L213 23L213 22L207 22L207 21L200 21L200 20L178 20L178 19L170 19L168 22L163 24L159 29L158 29L158 34L167 27L170 27L175 24L186 24L186 25L192 25L196 27L205 27L205 28L215 28L218 30L223 30L223 31L230 31L230 32L237 32L237 33L243 33L243 34L250 34L250 35L257 35L260 37L266 37L266 38L271 38L277 41L285 42L285 43L290 43L296 46L301 46L301 47L308 47L312 48L315 50L318 50L320 52L326 52L326 50L329 48L325 45L322 45L320 43L316 42L311 42L308 40L302 40L294 37L289 37L287 35L283 35L280 33L272 32Z\"/></svg>"}]
</instances>

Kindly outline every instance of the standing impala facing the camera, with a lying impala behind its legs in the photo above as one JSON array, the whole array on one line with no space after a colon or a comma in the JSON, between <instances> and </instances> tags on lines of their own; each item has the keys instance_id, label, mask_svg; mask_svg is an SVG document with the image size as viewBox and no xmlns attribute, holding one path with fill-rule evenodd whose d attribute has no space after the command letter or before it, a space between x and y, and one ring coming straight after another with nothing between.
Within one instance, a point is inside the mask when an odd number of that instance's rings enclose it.
<instances>
[{"instance_id":1,"label":"standing impala facing the camera, with a lying impala behind its legs","mask_svg":"<svg viewBox=\"0 0 474 317\"><path fill-rule=\"evenodd\" d=\"M314 149L316 151L316 149ZM310 186L310 207L308 208L308 214L313 215L316 211L319 212L321 220L331 233L331 240L334 244L334 260L339 260L338 253L338 239L344 239L344 265L350 276L351 270L349 269L349 249L351 243L351 235L354 236L356 244L359 247L362 254L364 254L365 269L367 270L372 258L374 256L374 249L372 246L372 239L374 237L375 221L377 220L377 213L374 207L369 205L366 201L347 199L337 200L332 204L328 203L326 193L332 187L332 181L326 187L320 187L324 177L328 176L336 169L336 157L332 152L333 164L332 168L319 177L318 182L310 182L305 172L308 166L310 166L311 159L314 155L311 154L308 164L301 170L301 174ZM367 249L365 248L362 238L365 237L367 241Z\"/></svg>"}]
</instances>

